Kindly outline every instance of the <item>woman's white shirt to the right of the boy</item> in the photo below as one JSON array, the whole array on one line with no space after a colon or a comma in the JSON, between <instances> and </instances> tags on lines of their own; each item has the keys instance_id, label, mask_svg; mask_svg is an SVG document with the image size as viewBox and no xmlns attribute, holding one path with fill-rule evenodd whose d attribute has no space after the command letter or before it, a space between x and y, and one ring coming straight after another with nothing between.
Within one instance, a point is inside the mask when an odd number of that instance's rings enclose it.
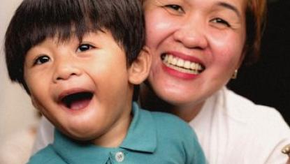
<instances>
[{"instance_id":1,"label":"woman's white shirt to the right of the boy","mask_svg":"<svg viewBox=\"0 0 290 164\"><path fill-rule=\"evenodd\" d=\"M290 128L272 107L255 105L225 87L206 100L190 126L209 163L284 164Z\"/></svg>"}]
</instances>

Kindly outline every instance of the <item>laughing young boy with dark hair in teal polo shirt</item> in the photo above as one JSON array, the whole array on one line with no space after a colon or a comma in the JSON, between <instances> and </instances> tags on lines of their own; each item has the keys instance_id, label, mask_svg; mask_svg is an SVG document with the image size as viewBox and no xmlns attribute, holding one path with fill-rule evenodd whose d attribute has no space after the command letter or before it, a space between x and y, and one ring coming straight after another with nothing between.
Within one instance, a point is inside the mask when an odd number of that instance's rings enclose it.
<instances>
[{"instance_id":1,"label":"laughing young boy with dark hair in teal polo shirt","mask_svg":"<svg viewBox=\"0 0 290 164\"><path fill-rule=\"evenodd\" d=\"M6 32L10 79L55 125L29 163L205 163L170 114L132 105L147 77L138 0L24 0Z\"/></svg>"}]
</instances>

